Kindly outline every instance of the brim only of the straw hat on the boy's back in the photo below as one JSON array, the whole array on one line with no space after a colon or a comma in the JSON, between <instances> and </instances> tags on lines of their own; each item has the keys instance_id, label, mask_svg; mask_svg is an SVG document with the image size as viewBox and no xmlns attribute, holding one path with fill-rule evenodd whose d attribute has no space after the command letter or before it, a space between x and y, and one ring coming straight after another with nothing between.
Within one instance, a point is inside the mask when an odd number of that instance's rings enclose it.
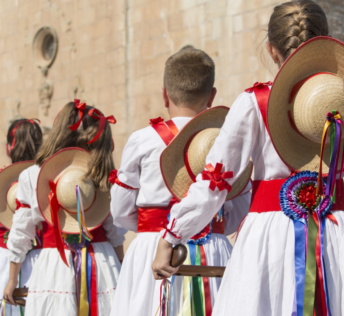
<instances>
[{"instance_id":1,"label":"brim only of the straw hat on the boy's back","mask_svg":"<svg viewBox=\"0 0 344 316\"><path fill-rule=\"evenodd\" d=\"M216 106L196 115L174 136L161 153L160 169L163 180L178 201L182 200L185 192L193 183L184 162L184 148L187 142L192 135L204 129L221 129L228 111L229 109L225 106ZM227 194L226 200L231 200L244 191L250 181L252 169L253 163L250 161L243 174L233 183L232 190Z\"/></svg>"}]
</instances>

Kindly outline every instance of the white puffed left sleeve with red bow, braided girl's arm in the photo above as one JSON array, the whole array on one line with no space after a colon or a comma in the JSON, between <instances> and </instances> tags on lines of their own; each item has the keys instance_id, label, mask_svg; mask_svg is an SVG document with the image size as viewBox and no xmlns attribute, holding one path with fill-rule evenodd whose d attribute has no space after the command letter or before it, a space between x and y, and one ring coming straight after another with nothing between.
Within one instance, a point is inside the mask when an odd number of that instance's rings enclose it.
<instances>
[{"instance_id":1,"label":"white puffed left sleeve with red bow, braided girl's arm","mask_svg":"<svg viewBox=\"0 0 344 316\"><path fill-rule=\"evenodd\" d=\"M216 163L222 163L222 172L233 171L233 178L225 179L229 184L233 184L250 160L258 133L259 120L254 102L250 93L242 93L228 112L207 155L206 164L211 163L215 167ZM219 191L215 187L212 191L209 184L209 180L202 180L202 174L198 174L187 196L172 207L169 231L161 231L166 241L172 244L186 243L212 220L225 202L227 190Z\"/></svg>"}]
</instances>

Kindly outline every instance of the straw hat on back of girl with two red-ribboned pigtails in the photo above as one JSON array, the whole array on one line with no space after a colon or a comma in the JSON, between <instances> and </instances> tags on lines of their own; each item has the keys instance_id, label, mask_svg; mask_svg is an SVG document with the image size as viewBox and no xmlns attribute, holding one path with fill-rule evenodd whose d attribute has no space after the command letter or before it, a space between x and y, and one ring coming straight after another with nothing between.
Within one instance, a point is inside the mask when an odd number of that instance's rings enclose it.
<instances>
[{"instance_id":1,"label":"straw hat on back of girl with two red-ribboned pigtails","mask_svg":"<svg viewBox=\"0 0 344 316\"><path fill-rule=\"evenodd\" d=\"M90 177L84 179L88 170L90 153L71 147L52 155L41 167L37 180L37 201L45 221L52 225L49 205L50 179L56 184L56 197L60 204L57 212L61 231L79 233L77 220L76 185L79 186L85 212L85 224L89 230L100 226L110 214L110 192L95 189Z\"/></svg>"}]
</instances>

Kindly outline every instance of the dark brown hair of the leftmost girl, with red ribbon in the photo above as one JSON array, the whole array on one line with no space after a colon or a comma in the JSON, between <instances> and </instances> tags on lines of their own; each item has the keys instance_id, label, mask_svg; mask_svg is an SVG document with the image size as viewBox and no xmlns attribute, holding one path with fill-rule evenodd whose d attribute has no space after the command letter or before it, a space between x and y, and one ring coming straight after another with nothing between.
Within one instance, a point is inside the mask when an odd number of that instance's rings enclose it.
<instances>
[{"instance_id":1,"label":"dark brown hair of the leftmost girl, with red ribbon","mask_svg":"<svg viewBox=\"0 0 344 316\"><path fill-rule=\"evenodd\" d=\"M11 133L14 129L14 133ZM7 132L7 144L10 147L13 144L9 152L12 163L34 160L41 143L42 131L35 121L20 119L10 125Z\"/></svg>"}]
</instances>

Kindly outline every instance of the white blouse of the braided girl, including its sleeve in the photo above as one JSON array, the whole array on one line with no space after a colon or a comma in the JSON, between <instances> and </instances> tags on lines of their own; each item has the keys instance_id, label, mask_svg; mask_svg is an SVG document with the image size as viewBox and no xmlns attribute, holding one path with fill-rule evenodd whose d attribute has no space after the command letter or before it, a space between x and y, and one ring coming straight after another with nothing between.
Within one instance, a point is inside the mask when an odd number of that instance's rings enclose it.
<instances>
[{"instance_id":1,"label":"white blouse of the braided girl, including its sleeve","mask_svg":"<svg viewBox=\"0 0 344 316\"><path fill-rule=\"evenodd\" d=\"M272 180L287 178L291 170L283 163L275 151L264 121L260 114L254 92L239 95L227 114L224 125L210 150L206 164L222 163L222 171L233 171L234 177L227 179L232 184L244 171L250 157L254 163L254 180ZM170 233L165 236L172 244L185 243L191 236L209 223L225 201L227 190L209 189L209 180L196 177L188 194L181 203L171 210L171 222L168 225L174 233L182 235L176 239ZM161 231L161 235L165 230Z\"/></svg>"}]
</instances>

